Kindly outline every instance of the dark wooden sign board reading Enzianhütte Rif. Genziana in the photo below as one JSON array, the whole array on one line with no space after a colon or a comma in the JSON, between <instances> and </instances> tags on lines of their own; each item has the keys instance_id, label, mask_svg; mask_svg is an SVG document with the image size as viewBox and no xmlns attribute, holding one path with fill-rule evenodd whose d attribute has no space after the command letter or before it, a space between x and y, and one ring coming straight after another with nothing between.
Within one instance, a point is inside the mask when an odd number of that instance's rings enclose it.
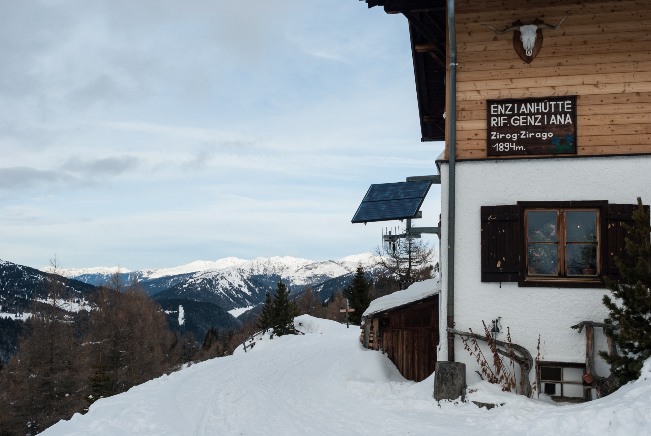
<instances>
[{"instance_id":1,"label":"dark wooden sign board reading Enzianh\u00fctte Rif. Genziana","mask_svg":"<svg viewBox=\"0 0 651 436\"><path fill-rule=\"evenodd\" d=\"M486 100L488 156L576 154L576 96Z\"/></svg>"}]
</instances>

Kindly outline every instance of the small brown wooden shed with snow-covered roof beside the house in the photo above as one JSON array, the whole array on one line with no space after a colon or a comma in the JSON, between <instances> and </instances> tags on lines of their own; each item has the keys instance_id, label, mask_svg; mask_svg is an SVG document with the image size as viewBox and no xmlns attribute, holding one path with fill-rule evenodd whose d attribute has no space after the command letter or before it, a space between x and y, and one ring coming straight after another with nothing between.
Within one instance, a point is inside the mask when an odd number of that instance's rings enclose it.
<instances>
[{"instance_id":1,"label":"small brown wooden shed with snow-covered roof beside the house","mask_svg":"<svg viewBox=\"0 0 651 436\"><path fill-rule=\"evenodd\" d=\"M430 290L419 291L427 287ZM391 300L396 305L392 306ZM381 297L369 309L362 318L364 346L387 353L400 374L408 380L422 381L432 375L439 345L436 280L425 280L407 290Z\"/></svg>"}]
</instances>

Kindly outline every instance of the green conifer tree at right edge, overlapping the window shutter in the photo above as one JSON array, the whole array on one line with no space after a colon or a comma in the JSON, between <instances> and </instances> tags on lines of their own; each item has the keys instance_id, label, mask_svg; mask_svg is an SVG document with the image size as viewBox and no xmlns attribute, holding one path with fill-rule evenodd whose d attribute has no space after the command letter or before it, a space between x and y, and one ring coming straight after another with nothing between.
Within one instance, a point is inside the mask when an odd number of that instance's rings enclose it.
<instances>
[{"instance_id":1,"label":"green conifer tree at right edge, overlapping the window shutter","mask_svg":"<svg viewBox=\"0 0 651 436\"><path fill-rule=\"evenodd\" d=\"M651 357L651 246L649 236L649 211L644 208L642 199L637 197L637 208L633 211L633 226L622 223L631 238L626 241L626 252L637 259L635 266L624 264L615 258L615 264L627 284L618 284L605 277L608 289L620 301L615 302L609 295L603 295L603 304L610 310L613 323L619 323L619 330L606 330L613 338L621 355L609 355L600 351L599 355L611 365L611 374L621 385L640 376L644 360Z\"/></svg>"}]
</instances>

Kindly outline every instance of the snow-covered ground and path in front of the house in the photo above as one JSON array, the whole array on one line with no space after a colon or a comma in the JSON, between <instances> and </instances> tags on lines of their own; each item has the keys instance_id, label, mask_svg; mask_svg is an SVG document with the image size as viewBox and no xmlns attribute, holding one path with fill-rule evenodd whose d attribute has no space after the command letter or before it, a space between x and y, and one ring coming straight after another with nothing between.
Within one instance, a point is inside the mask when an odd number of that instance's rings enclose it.
<instances>
[{"instance_id":1,"label":"snow-covered ground and path in front of the house","mask_svg":"<svg viewBox=\"0 0 651 436\"><path fill-rule=\"evenodd\" d=\"M651 359L611 396L557 405L469 386L492 410L432 398L434 375L404 379L360 330L304 315L305 335L266 338L247 353L194 364L94 403L42 433L55 435L648 435Z\"/></svg>"}]
</instances>

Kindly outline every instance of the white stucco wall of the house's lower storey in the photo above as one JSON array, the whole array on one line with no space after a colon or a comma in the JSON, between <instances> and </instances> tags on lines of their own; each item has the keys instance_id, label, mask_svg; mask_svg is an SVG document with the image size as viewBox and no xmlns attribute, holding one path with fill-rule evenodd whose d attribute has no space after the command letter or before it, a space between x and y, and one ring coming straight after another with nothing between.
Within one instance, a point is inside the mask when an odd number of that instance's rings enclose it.
<instances>
[{"instance_id":1,"label":"white stucco wall of the house's lower storey","mask_svg":"<svg viewBox=\"0 0 651 436\"><path fill-rule=\"evenodd\" d=\"M447 360L447 203L448 164L441 164L441 347L439 360ZM465 161L456 164L456 254L454 321L462 331L482 332L482 320L500 316L504 331L510 327L514 343L546 361L585 362L585 331L570 329L583 320L608 318L602 305L605 289L520 288L518 283L481 282L480 206L516 204L518 201L608 200L635 204L641 196L651 202L651 156L586 157L574 159L522 159ZM606 349L603 330L594 329L597 349ZM500 339L505 339L500 337ZM478 379L477 362L469 357L458 337L455 360L467 365L467 383ZM609 368L596 356L596 371ZM533 381L532 372L531 379Z\"/></svg>"}]
</instances>

